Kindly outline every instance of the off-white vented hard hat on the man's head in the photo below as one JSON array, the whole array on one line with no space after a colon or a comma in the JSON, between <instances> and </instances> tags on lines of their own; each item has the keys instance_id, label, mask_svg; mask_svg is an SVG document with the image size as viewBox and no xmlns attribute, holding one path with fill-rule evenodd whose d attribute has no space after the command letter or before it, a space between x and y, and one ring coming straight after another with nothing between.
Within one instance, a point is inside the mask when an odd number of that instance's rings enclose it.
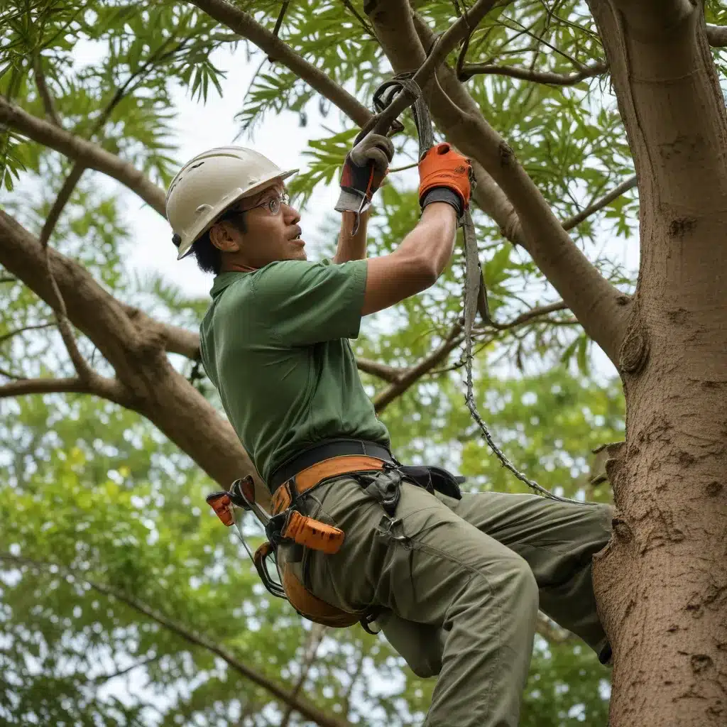
<instances>
[{"instance_id":1,"label":"off-white vented hard hat on the man's head","mask_svg":"<svg viewBox=\"0 0 727 727\"><path fill-rule=\"evenodd\" d=\"M174 244L179 243L177 260L190 252L194 241L230 204L297 171L284 172L267 157L242 146L220 146L190 159L166 193L166 219L174 230Z\"/></svg>"}]
</instances>

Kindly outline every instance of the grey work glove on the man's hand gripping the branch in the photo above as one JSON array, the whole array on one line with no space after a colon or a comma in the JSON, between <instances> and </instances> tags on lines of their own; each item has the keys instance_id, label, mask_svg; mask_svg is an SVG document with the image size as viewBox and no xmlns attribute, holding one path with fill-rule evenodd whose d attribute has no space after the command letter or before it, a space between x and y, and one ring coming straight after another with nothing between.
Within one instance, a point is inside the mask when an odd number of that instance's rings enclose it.
<instances>
[{"instance_id":1,"label":"grey work glove on the man's hand gripping the branch","mask_svg":"<svg viewBox=\"0 0 727 727\"><path fill-rule=\"evenodd\" d=\"M368 134L346 155L341 173L341 194L337 212L364 212L371 204L374 192L381 186L389 163L394 156L394 145L389 137Z\"/></svg>"}]
</instances>

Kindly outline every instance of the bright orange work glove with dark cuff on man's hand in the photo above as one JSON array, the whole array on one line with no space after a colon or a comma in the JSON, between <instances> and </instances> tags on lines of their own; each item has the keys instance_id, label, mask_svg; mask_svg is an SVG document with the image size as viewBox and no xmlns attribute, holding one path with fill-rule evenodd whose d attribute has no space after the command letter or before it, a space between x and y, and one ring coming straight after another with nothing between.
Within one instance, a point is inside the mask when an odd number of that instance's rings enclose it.
<instances>
[{"instance_id":1,"label":"bright orange work glove with dark cuff on man's hand","mask_svg":"<svg viewBox=\"0 0 727 727\"><path fill-rule=\"evenodd\" d=\"M436 144L419 161L419 205L449 202L461 217L470 206L472 164L449 144Z\"/></svg>"}]
</instances>

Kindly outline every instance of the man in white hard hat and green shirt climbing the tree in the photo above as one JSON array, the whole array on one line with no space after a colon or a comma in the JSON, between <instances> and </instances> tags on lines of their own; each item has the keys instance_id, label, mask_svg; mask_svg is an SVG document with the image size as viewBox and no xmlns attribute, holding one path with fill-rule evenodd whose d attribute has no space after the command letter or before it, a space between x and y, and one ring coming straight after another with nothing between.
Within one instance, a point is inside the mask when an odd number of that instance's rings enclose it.
<instances>
[{"instance_id":1,"label":"man in white hard hat and green shirt climbing the tree","mask_svg":"<svg viewBox=\"0 0 727 727\"><path fill-rule=\"evenodd\" d=\"M320 624L377 622L417 675L439 675L427 726L516 727L538 608L610 659L591 558L608 542L611 508L462 494L443 470L402 467L390 451L348 339L362 316L435 283L472 176L449 144L427 150L419 224L391 254L366 259L358 216L392 154L369 134L347 156L338 206L353 198L357 212L344 212L332 260L306 259L284 190L297 170L246 148L188 161L167 216L179 257L215 273L202 362L270 489L284 595Z\"/></svg>"}]
</instances>

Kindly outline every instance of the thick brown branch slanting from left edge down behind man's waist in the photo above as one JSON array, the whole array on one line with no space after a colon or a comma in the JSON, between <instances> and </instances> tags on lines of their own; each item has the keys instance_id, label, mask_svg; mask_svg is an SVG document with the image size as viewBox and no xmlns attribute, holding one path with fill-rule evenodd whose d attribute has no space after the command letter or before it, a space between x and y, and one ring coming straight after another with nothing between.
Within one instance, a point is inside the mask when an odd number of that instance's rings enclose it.
<instances>
[{"instance_id":1,"label":"thick brown branch slanting from left edge down behind man's waist","mask_svg":"<svg viewBox=\"0 0 727 727\"><path fill-rule=\"evenodd\" d=\"M105 292L81 265L48 252L69 320L116 371L116 389L107 398L147 417L225 489L235 478L254 473L230 424L169 363L169 326L138 312L129 316L129 308ZM0 264L51 302L43 256L39 241L0 211ZM270 494L256 479L257 497L268 509Z\"/></svg>"}]
</instances>

